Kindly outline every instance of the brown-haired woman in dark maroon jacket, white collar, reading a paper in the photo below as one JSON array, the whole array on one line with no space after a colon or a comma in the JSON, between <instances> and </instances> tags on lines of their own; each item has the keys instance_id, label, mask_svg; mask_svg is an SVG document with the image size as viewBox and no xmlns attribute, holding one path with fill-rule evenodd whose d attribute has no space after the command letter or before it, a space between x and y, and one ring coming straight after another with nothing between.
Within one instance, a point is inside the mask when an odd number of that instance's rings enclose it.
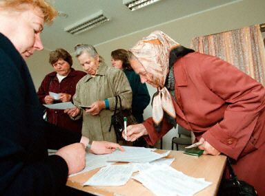
<instances>
[{"instance_id":1,"label":"brown-haired woman in dark maroon jacket, white collar, reading a paper","mask_svg":"<svg viewBox=\"0 0 265 196\"><path fill-rule=\"evenodd\" d=\"M37 95L41 104L72 101L77 82L86 76L86 72L76 71L72 67L72 56L59 48L50 52L49 63L55 72L47 74L43 79ZM60 94L59 100L50 96L49 92ZM82 120L71 120L62 109L46 109L48 122L81 133Z\"/></svg>"}]
</instances>

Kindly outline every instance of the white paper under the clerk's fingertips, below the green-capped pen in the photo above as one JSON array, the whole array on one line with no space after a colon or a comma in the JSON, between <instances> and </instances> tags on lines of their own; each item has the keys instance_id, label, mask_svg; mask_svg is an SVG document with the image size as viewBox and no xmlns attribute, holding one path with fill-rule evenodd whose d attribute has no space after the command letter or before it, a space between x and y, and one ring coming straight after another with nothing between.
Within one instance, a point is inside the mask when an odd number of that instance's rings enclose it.
<instances>
[{"instance_id":1,"label":"white paper under the clerk's fingertips, below the green-capped pen","mask_svg":"<svg viewBox=\"0 0 265 196\"><path fill-rule=\"evenodd\" d=\"M108 157L109 162L151 162L166 157L170 151L159 154L143 147L123 146L125 151L115 151Z\"/></svg>"}]
</instances>

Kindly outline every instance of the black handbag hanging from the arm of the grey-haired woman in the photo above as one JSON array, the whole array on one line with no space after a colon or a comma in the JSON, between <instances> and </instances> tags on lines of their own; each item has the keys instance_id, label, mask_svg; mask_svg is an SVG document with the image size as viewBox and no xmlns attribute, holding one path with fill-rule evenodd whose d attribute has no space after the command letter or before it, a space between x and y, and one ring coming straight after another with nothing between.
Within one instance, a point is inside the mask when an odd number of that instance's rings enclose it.
<instances>
[{"instance_id":1,"label":"black handbag hanging from the arm of the grey-haired woman","mask_svg":"<svg viewBox=\"0 0 265 196\"><path fill-rule=\"evenodd\" d=\"M117 109L118 99L119 110ZM117 142L122 139L122 131L124 130L124 117L127 118L127 126L130 124L137 124L137 120L130 110L121 109L121 98L119 96L115 96L115 110L113 115L111 116L110 129L108 131L111 131L112 126L114 127Z\"/></svg>"}]
</instances>

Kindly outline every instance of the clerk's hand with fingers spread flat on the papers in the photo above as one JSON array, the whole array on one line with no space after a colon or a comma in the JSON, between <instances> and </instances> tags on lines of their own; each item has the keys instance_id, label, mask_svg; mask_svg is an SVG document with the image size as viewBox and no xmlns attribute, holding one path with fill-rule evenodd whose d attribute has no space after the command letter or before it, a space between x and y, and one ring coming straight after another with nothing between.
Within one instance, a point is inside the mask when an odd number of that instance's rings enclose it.
<instances>
[{"instance_id":1,"label":"clerk's hand with fingers spread flat on the papers","mask_svg":"<svg viewBox=\"0 0 265 196\"><path fill-rule=\"evenodd\" d=\"M124 151L124 148L116 143L106 142L106 141L93 141L91 144L90 152L97 155L102 155L102 154L110 154L116 149Z\"/></svg>"}]
</instances>

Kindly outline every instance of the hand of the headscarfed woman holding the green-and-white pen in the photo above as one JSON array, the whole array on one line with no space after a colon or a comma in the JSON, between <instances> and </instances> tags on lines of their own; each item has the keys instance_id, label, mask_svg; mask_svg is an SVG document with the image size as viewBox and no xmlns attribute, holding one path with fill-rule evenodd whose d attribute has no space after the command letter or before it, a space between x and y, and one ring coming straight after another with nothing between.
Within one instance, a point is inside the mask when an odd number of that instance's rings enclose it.
<instances>
[{"instance_id":1,"label":"hand of the headscarfed woman holding the green-and-white pen","mask_svg":"<svg viewBox=\"0 0 265 196\"><path fill-rule=\"evenodd\" d=\"M144 124L130 125L127 127L126 141L134 142L143 135L148 135L146 127L144 127ZM125 131L122 132L122 137L125 139Z\"/></svg>"}]
</instances>

